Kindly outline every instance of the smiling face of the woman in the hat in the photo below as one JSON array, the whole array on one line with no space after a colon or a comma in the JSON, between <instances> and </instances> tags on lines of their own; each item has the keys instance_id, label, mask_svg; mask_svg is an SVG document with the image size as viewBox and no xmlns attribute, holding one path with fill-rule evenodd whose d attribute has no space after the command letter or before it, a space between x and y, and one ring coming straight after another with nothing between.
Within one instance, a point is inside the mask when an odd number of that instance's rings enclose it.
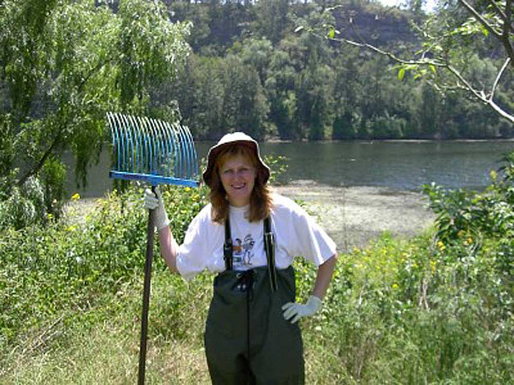
<instances>
[{"instance_id":1,"label":"smiling face of the woman in the hat","mask_svg":"<svg viewBox=\"0 0 514 385\"><path fill-rule=\"evenodd\" d=\"M219 177L232 206L242 207L250 203L255 184L255 167L241 154L229 157L219 167Z\"/></svg>"}]
</instances>

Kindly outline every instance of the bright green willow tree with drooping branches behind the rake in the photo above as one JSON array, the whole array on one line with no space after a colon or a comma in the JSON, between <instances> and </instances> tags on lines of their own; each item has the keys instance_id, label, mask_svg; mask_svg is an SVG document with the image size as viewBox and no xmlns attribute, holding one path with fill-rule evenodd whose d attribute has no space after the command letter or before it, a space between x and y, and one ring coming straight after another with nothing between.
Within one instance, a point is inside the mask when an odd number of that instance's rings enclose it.
<instances>
[{"instance_id":1,"label":"bright green willow tree with drooping branches behind the rake","mask_svg":"<svg viewBox=\"0 0 514 385\"><path fill-rule=\"evenodd\" d=\"M189 24L172 24L158 2L126 0L117 13L93 0L0 3L3 196L28 181L57 213L61 156L76 157L77 183L99 155L109 110L142 113L148 94L173 76L189 52ZM39 183L38 182L38 183ZM52 187L52 188L50 188ZM61 196L59 196L61 195Z\"/></svg>"}]
</instances>

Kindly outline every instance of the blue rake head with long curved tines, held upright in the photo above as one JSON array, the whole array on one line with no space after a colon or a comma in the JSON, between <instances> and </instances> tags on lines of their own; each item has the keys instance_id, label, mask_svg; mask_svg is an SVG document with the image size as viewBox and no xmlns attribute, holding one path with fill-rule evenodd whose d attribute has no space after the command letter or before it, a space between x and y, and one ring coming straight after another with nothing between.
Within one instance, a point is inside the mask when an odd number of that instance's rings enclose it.
<instances>
[{"instance_id":1,"label":"blue rake head with long curved tines, held upright","mask_svg":"<svg viewBox=\"0 0 514 385\"><path fill-rule=\"evenodd\" d=\"M187 127L113 112L107 122L116 160L110 178L198 186L198 159Z\"/></svg>"}]
</instances>

